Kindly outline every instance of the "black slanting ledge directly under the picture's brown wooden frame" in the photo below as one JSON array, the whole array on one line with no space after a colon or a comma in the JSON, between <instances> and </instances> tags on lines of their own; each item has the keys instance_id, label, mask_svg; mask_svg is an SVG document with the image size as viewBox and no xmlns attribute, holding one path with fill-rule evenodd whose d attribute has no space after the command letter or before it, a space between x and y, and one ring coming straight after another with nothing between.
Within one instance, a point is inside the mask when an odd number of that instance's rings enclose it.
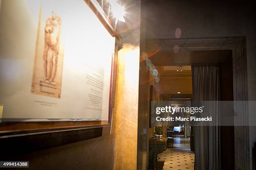
<instances>
[{"instance_id":1,"label":"black slanting ledge directly under the picture's brown wooden frame","mask_svg":"<svg viewBox=\"0 0 256 170\"><path fill-rule=\"evenodd\" d=\"M54 133L31 133L16 135L1 139L1 160L12 160L15 156L38 150L65 145L102 136L102 127L69 131L54 131Z\"/></svg>"}]
</instances>

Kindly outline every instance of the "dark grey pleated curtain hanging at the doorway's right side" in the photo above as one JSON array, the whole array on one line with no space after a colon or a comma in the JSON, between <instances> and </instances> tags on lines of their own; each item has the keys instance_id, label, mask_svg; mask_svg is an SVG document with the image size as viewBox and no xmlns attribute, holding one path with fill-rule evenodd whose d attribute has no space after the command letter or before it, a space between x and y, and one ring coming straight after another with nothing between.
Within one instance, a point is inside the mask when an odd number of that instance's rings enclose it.
<instances>
[{"instance_id":1,"label":"dark grey pleated curtain hanging at the doorway's right side","mask_svg":"<svg viewBox=\"0 0 256 170\"><path fill-rule=\"evenodd\" d=\"M220 97L220 69L218 66L192 66L193 101L218 101ZM204 112L218 117L218 105L209 104ZM218 126L193 126L195 170L219 170Z\"/></svg>"}]
</instances>

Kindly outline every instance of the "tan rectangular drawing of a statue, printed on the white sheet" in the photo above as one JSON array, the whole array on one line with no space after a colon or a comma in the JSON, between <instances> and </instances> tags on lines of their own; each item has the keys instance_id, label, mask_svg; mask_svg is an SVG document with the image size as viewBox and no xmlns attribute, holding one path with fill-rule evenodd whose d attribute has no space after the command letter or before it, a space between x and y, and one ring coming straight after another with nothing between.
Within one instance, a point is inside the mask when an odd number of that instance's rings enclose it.
<instances>
[{"instance_id":1,"label":"tan rectangular drawing of a statue, printed on the white sheet","mask_svg":"<svg viewBox=\"0 0 256 170\"><path fill-rule=\"evenodd\" d=\"M41 12L42 9L39 16L41 16ZM42 23L42 20L46 22ZM47 19L39 17L37 32L31 92L60 98L64 55L64 45L61 40L61 17L54 11L49 13ZM42 33L43 36L41 36Z\"/></svg>"}]
</instances>

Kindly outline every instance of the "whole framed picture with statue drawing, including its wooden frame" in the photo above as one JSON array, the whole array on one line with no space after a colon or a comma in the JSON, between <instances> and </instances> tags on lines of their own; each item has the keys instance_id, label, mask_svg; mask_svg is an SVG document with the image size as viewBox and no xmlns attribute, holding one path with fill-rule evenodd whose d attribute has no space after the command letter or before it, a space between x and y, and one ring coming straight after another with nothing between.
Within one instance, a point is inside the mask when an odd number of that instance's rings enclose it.
<instances>
[{"instance_id":1,"label":"whole framed picture with statue drawing, including its wooden frame","mask_svg":"<svg viewBox=\"0 0 256 170\"><path fill-rule=\"evenodd\" d=\"M109 126L112 28L95 0L2 1L0 134Z\"/></svg>"}]
</instances>

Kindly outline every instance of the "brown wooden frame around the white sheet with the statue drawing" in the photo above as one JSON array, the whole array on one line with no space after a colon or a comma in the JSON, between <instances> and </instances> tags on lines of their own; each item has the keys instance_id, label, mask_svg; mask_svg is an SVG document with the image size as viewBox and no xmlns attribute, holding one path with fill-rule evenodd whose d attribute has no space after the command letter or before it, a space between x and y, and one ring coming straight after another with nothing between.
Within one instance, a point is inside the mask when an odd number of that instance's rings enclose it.
<instances>
[{"instance_id":1,"label":"brown wooden frame around the white sheet with the statue drawing","mask_svg":"<svg viewBox=\"0 0 256 170\"><path fill-rule=\"evenodd\" d=\"M112 37L117 36L118 32L113 29L111 21L108 19L105 12L102 10L96 0L84 0L100 23L106 28ZM116 80L116 67L117 67L117 39L115 38L115 49L111 56L111 73L110 73L110 93L108 104L108 120L82 120L82 121L28 121L28 122L5 122L0 123L0 140L13 137L21 137L27 135L46 135L47 133L74 133L79 130L80 133L86 133L89 129L97 128L96 135L98 137L102 132L102 127L110 127L112 123L112 115L115 103L115 80ZM4 107L3 107L4 111ZM77 131L78 132L78 131ZM51 135L53 136L53 135ZM84 138L87 139L87 138ZM82 139L79 139L82 140ZM8 142L7 142L8 143ZM54 144L53 144L54 145ZM39 147L40 148L40 147Z\"/></svg>"}]
</instances>

